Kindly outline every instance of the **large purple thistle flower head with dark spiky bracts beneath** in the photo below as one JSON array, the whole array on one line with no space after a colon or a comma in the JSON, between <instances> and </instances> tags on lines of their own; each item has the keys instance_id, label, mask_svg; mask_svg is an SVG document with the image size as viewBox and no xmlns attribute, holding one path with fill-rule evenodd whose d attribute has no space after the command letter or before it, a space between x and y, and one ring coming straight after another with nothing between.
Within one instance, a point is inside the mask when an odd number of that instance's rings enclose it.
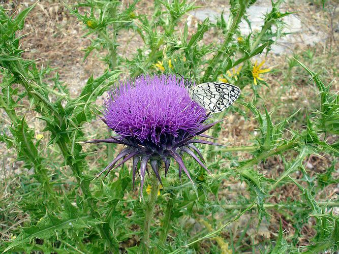
<instances>
[{"instance_id":1,"label":"large purple thistle flower head with dark spiky bracts beneath","mask_svg":"<svg viewBox=\"0 0 339 254\"><path fill-rule=\"evenodd\" d=\"M194 143L219 144L194 138L212 138L203 132L220 121L205 124L208 114L204 108L192 101L184 85L184 80L175 75L140 76L134 81L120 82L118 88L109 92L104 102L102 120L117 135L109 139L87 142L123 144L126 148L122 149L99 175L106 171L107 175L133 158L133 187L136 173L139 174L140 162L142 197L148 162L161 184L159 165L161 161L164 162L166 177L171 158L179 166L179 176L181 177L183 171L192 181L182 159L183 153L192 156L209 172L203 164L201 152Z\"/></svg>"}]
</instances>

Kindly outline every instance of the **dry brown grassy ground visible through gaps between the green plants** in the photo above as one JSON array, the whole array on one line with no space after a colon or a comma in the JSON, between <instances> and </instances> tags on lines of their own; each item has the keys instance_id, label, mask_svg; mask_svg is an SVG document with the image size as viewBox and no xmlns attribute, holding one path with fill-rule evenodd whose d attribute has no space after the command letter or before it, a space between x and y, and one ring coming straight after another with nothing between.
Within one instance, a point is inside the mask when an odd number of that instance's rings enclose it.
<instances>
[{"instance_id":1,"label":"dry brown grassy ground visible through gaps between the green plants","mask_svg":"<svg viewBox=\"0 0 339 254\"><path fill-rule=\"evenodd\" d=\"M72 4L73 1L68 1ZM198 1L198 5L207 5L209 8L219 9L223 5L223 1ZM337 75L337 62L338 57L338 45L336 43L338 39L338 33L335 31L335 26L338 26L338 20L335 15L323 12L321 8L316 5L310 5L312 2L298 1L296 4L285 4L287 11L296 11L298 17L302 20L302 24L307 26L314 26L316 29L325 31L328 37L322 42L318 43L314 47L306 46L305 44L294 45L295 55L304 54L305 50L314 52L313 60L311 63L311 69L316 71L322 71L324 81L329 83L332 78ZM9 9L23 9L32 2L27 1L9 1L6 6ZM334 2L327 3L327 5L335 5ZM139 9L143 12L151 12L151 4L147 1L142 2L139 5ZM301 11L300 11L301 10ZM337 16L337 15L336 15ZM310 17L312 17L310 19ZM336 18L336 19L335 19ZM334 19L334 20L333 20ZM332 24L332 25L331 25ZM192 22L190 30L195 29L196 22ZM334 27L334 28L333 28ZM52 68L58 68L57 72L60 75L60 80L65 82L70 88L71 96L76 97L80 93L81 88L86 83L90 75L100 75L105 70L105 66L100 61L100 56L92 54L85 61L83 61L83 49L89 45L88 38L82 38L84 34L82 30L82 24L77 21L74 16L68 14L67 9L59 1L44 1L40 2L37 7L29 14L23 33L27 35L22 40L22 48L27 49L24 53L26 58L39 59L39 65L49 65ZM210 36L213 35L212 31L208 32ZM126 32L121 38L122 46L119 50L121 54L131 55L133 50L137 48L139 44L138 37ZM128 45L128 46L127 46ZM130 49L132 49L130 51ZM302 124L305 123L305 109L314 108L314 105L319 104L316 98L317 90L312 82L309 82L309 76L307 76L300 68L294 68L290 72L290 76L286 76L289 70L288 58L291 55L273 55L267 56L266 65L273 67L276 70L272 74L265 75L266 82L269 84L270 89L263 87L261 94L263 94L263 100L269 111L272 111L273 119L279 120L281 117L286 117L297 109L302 110L297 114L291 124L299 129L302 129ZM333 90L338 90L338 82L333 83ZM246 91L244 92L246 94ZM248 93L249 97L251 93ZM97 105L101 105L101 101L97 102ZM2 115L1 124L10 125L5 113L0 110ZM28 122L30 126L37 130L42 130L41 122L32 117L32 120ZM301 125L298 125L300 124ZM88 137L92 138L98 130L103 130L101 135L105 135L103 125L101 122L94 122L88 124L85 127ZM246 120L244 117L233 114L227 121L224 122L223 131L221 133L221 142L230 146L242 146L250 145L249 140L254 139L254 132L256 128L255 120ZM96 131L94 131L96 130ZM45 137L47 139L47 137ZM331 137L336 139L337 137ZM45 142L47 145L47 143ZM99 149L99 148L98 148ZM106 149L106 146L102 146L100 149ZM0 201L2 201L2 214L5 217L0 221L2 230L0 239L11 238L11 231L13 228L22 225L26 220L27 215L22 214L22 211L17 207L19 199L22 197L13 196L17 194L17 188L20 188L20 180L16 175L26 174L25 170L20 169L22 163L16 162L16 153L14 149L7 149L4 144L0 143L0 154L2 154L2 182L0 188ZM99 154L99 153L98 153ZM102 152L101 154L105 154ZM239 155L239 154L238 154ZM97 168L98 155L90 155L90 167ZM248 157L246 153L243 153L243 157ZM57 160L57 157L55 158ZM321 173L329 166L329 161L326 155L323 158L311 156L308 161L305 162L305 168L310 172L310 176L313 174ZM338 165L337 165L338 166ZM63 169L61 169L63 170ZM267 177L276 178L280 175L284 166L279 156L269 158L266 162L262 163L259 168L261 173L266 174ZM66 170L65 170L66 171ZM27 172L29 174L29 172ZM67 174L65 172L65 174ZM238 180L229 180L224 182L223 186L230 187L227 192L224 193L225 198L234 199L238 195L248 195L244 184L240 184ZM334 199L334 196L339 192L338 186L330 185L322 193L318 193L316 198L319 199ZM271 198L271 202L279 203L286 199L295 199L300 194L297 188L292 187L287 189L282 187L280 190L275 190L275 193L280 195ZM338 213L338 211L335 211ZM243 224L249 218L242 217L242 219L232 224L230 228L233 231L233 235L236 235L236 231L239 227L243 227ZM288 218L276 214L272 218L276 220L270 221L270 224L264 222L262 228L257 232L257 238L269 238L270 235L274 235L277 232L276 226L279 225L279 220L282 219L283 227L289 234L294 233L294 229L288 221ZM310 220L310 226L304 227L302 234L303 238L300 239L300 245L306 244L307 239L310 239L314 235L314 230L311 228L312 221ZM253 223L252 228L255 229L256 225ZM255 232L253 232L255 234ZM227 235L229 236L229 235ZM255 241L258 241L257 239ZM128 243L129 245L129 243ZM129 245L131 246L131 245Z\"/></svg>"}]
</instances>

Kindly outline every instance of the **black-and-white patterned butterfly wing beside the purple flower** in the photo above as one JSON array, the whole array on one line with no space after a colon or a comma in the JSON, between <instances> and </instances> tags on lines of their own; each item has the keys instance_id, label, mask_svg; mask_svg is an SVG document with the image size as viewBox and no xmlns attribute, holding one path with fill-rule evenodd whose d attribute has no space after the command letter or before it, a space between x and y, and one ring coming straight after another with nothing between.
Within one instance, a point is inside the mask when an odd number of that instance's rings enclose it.
<instances>
[{"instance_id":1,"label":"black-and-white patterned butterfly wing beside the purple flower","mask_svg":"<svg viewBox=\"0 0 339 254\"><path fill-rule=\"evenodd\" d=\"M191 87L189 93L206 110L219 113L239 97L240 88L223 82L207 82Z\"/></svg>"}]
</instances>

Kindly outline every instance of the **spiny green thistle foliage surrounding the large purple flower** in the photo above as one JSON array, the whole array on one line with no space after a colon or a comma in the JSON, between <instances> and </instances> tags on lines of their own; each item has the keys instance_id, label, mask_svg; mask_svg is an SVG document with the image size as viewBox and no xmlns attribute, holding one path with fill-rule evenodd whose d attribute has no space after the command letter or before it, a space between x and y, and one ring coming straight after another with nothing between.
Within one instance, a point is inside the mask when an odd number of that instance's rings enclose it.
<instances>
[{"instance_id":1,"label":"spiny green thistle foliage surrounding the large purple flower","mask_svg":"<svg viewBox=\"0 0 339 254\"><path fill-rule=\"evenodd\" d=\"M297 252L300 250L297 246L299 229L309 224L309 217L315 219L316 235L310 246L301 249L337 251L339 218L327 210L338 203L317 200L315 194L337 183L334 173L339 145L337 141L328 142L327 137L339 134L338 94L330 90L331 84L321 81L320 75L290 58L289 73L300 65L311 75L319 90L319 107L313 108L310 114L306 112L303 130L293 129L290 124L298 109L286 118L273 120L274 112L263 103L261 89L251 85L253 57L263 52L268 54L276 39L285 35L282 18L290 13L280 11L282 1L272 1L272 10L263 17L261 30L245 36L240 33L239 23L250 24L246 10L254 2L230 1L228 23L223 15L215 24L206 19L198 23L193 33L186 22L181 24L186 15L198 7L185 0L156 0L151 17L137 15L137 0L130 4L86 0L68 6L70 13L83 22L84 37L90 40L84 58L100 53L107 66L101 76L91 76L87 80L77 98L60 83L55 70L39 67L35 60L22 57L21 38L16 32L24 28L24 20L36 4L15 17L10 17L0 7L0 108L11 122L2 126L0 141L16 150L17 161L23 163L22 169L34 171L32 175L18 175L21 184L17 190L18 206L27 214L27 221L22 228L13 231L16 238L1 243L0 249L3 252L141 252L141 228L149 207L136 198L129 168L123 166L118 176L111 174L105 180L92 181L99 172L98 167L108 162L100 160L96 166L88 165L93 157L91 152L83 151L81 141L88 135L100 135L99 131L86 133L85 126L93 123L96 114L100 115L94 103L122 75L133 78L166 72L180 73L197 83L221 76L234 81L243 89L244 96L233 109L245 116L246 121L254 118L258 133L249 146L213 150L206 147L204 155L207 155L213 177L202 173L187 159L194 185L186 178L178 179L177 169L171 166L173 173L163 179L164 189L154 201L159 219L154 221L157 225L150 228L151 251L201 252L200 243L204 241L209 244L210 252L221 252L225 242L239 252ZM142 45L124 55L119 53L123 46L120 34L127 31L135 33ZM212 41L205 42L206 35L212 37ZM220 43L215 38L223 40ZM232 68L233 75L226 75ZM52 74L54 78L50 78ZM252 94L253 99L250 98ZM224 116L225 113L221 113L214 118ZM43 145L41 138L36 137L37 130L30 124L33 117L42 123L41 132L47 137L47 144ZM218 137L221 131L222 125L219 125L210 135ZM100 146L87 149L95 151ZM236 151L246 152L248 156L231 153ZM311 176L304 168L305 160L325 154L331 160L326 172ZM271 179L258 166L276 157L281 158L284 170ZM228 166L225 162L229 162ZM296 178L295 172L302 177ZM239 195L234 204L225 199L225 181L231 179L244 182L249 194ZM151 183L149 178L146 182ZM271 198L284 191L285 186L296 186L300 197L276 203ZM147 197L146 193L144 196ZM295 226L295 235L285 236L281 220L280 227L275 227L278 237L260 246L252 244L246 233L251 221L242 232L231 236L227 227L246 214L256 218L257 230L264 218L270 220L272 214L279 214ZM215 230L205 228L201 218L208 218ZM198 231L195 225L200 225ZM209 239L217 236L224 239L224 245L223 241L218 241L218 245L210 243Z\"/></svg>"}]
</instances>

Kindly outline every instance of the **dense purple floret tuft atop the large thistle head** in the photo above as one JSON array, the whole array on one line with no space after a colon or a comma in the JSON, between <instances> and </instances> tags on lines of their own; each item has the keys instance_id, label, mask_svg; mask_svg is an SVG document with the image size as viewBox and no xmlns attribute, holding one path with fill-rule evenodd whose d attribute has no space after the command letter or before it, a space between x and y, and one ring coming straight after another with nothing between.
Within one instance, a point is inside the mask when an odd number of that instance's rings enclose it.
<instances>
[{"instance_id":1,"label":"dense purple floret tuft atop the large thistle head","mask_svg":"<svg viewBox=\"0 0 339 254\"><path fill-rule=\"evenodd\" d=\"M192 101L183 79L175 75L140 76L120 83L104 103L107 125L117 134L141 143L159 144L167 135L193 134L206 117L203 107Z\"/></svg>"}]
</instances>

